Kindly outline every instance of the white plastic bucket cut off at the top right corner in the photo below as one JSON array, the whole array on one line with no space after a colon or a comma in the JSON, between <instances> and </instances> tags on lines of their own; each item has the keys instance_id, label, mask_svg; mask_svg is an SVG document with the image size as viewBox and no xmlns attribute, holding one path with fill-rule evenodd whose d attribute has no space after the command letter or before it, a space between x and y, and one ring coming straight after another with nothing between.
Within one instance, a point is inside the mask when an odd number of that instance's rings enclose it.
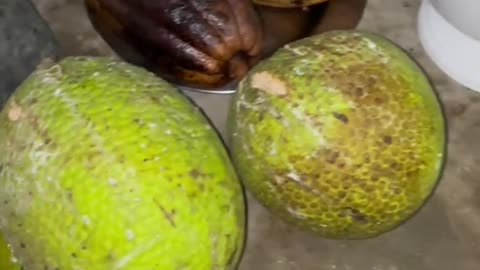
<instances>
[{"instance_id":1,"label":"white plastic bucket cut off at the top right corner","mask_svg":"<svg viewBox=\"0 0 480 270\"><path fill-rule=\"evenodd\" d=\"M480 92L480 0L423 0L420 42L450 78Z\"/></svg>"}]
</instances>

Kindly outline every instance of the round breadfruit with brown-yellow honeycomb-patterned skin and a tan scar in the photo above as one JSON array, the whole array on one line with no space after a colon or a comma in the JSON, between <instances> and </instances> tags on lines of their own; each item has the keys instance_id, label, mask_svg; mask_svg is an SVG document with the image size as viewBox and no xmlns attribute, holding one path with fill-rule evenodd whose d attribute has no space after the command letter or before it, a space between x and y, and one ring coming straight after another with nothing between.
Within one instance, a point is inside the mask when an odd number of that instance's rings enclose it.
<instances>
[{"instance_id":1,"label":"round breadfruit with brown-yellow honeycomb-patterned skin and a tan scar","mask_svg":"<svg viewBox=\"0 0 480 270\"><path fill-rule=\"evenodd\" d=\"M327 238L392 230L420 209L443 168L445 120L427 77L367 32L286 45L240 83L229 118L247 189Z\"/></svg>"}]
</instances>

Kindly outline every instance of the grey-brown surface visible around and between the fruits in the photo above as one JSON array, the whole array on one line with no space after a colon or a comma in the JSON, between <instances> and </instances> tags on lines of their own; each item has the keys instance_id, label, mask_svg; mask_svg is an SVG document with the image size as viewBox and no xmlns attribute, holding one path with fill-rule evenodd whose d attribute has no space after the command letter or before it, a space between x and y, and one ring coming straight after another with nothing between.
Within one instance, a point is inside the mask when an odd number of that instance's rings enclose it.
<instances>
[{"instance_id":1,"label":"grey-brown surface visible around and between the fruits","mask_svg":"<svg viewBox=\"0 0 480 270\"><path fill-rule=\"evenodd\" d=\"M111 55L93 31L82 1L34 0L67 55ZM449 154L435 194L396 230L361 241L300 232L249 200L249 236L240 270L480 269L480 94L446 77L418 41L420 1L370 0L359 26L407 49L431 76L444 103ZM229 95L188 92L223 134Z\"/></svg>"}]
</instances>

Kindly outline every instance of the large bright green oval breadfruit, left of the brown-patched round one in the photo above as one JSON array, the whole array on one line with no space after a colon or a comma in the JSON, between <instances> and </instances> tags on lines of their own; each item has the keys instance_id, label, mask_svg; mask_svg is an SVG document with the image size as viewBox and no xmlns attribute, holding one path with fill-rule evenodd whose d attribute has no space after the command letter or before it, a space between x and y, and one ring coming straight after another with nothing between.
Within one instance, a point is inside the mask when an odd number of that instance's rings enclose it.
<instances>
[{"instance_id":1,"label":"large bright green oval breadfruit, left of the brown-patched round one","mask_svg":"<svg viewBox=\"0 0 480 270\"><path fill-rule=\"evenodd\" d=\"M33 73L0 114L0 229L28 270L234 269L240 182L165 81L109 58Z\"/></svg>"}]
</instances>

